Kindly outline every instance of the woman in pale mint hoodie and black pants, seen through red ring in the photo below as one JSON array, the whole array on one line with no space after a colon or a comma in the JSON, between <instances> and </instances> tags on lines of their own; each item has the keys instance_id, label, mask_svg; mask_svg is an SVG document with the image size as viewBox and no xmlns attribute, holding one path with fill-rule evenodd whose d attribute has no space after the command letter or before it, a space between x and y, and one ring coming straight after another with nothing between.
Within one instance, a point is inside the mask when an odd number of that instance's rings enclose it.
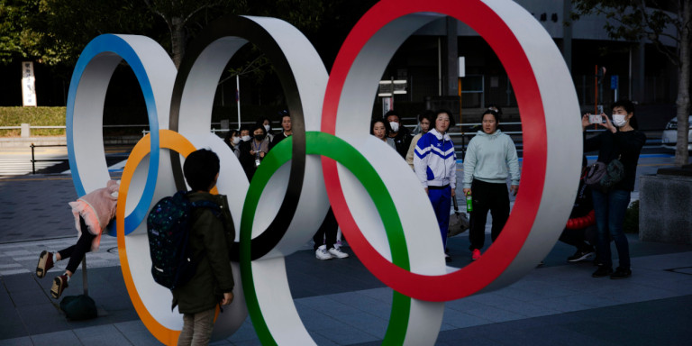
<instances>
[{"instance_id":1,"label":"woman in pale mint hoodie and black pants, seen through red ring","mask_svg":"<svg viewBox=\"0 0 692 346\"><path fill-rule=\"evenodd\" d=\"M474 260L480 258L486 240L487 212L493 215L492 241L505 227L509 217L508 177L512 194L516 196L519 191L516 147L508 135L497 129L499 123L498 112L488 109L483 114L483 131L469 141L464 158L464 195L471 195L473 200L469 250Z\"/></svg>"}]
</instances>

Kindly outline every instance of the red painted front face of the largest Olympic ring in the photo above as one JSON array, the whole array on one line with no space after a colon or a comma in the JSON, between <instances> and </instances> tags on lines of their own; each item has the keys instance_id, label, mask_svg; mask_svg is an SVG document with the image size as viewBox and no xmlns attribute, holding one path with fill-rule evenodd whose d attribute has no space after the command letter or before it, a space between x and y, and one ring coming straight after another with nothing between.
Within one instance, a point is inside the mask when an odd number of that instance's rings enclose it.
<instances>
[{"instance_id":1,"label":"red painted front face of the largest Olympic ring","mask_svg":"<svg viewBox=\"0 0 692 346\"><path fill-rule=\"evenodd\" d=\"M504 232L480 259L455 272L428 276L401 269L382 257L360 232L341 191L336 162L332 159L322 162L334 214L365 267L405 296L440 302L469 296L491 285L524 246L541 204L547 168L547 133L541 93L524 48L505 21L481 0L384 0L373 6L353 27L334 61L324 96L323 132L335 134L343 84L369 39L399 17L425 12L449 15L478 32L496 52L514 86L522 114L524 165L520 183L522 193L516 197Z\"/></svg>"}]
</instances>

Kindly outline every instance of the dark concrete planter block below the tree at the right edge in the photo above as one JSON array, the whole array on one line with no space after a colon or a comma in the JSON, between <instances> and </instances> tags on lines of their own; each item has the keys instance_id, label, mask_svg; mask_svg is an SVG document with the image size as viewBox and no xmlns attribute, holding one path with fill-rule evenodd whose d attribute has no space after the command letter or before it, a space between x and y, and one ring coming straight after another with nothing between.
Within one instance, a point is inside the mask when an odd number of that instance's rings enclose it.
<instances>
[{"instance_id":1,"label":"dark concrete planter block below the tree at the right edge","mask_svg":"<svg viewBox=\"0 0 692 346\"><path fill-rule=\"evenodd\" d=\"M692 244L692 177L642 176L639 239Z\"/></svg>"}]
</instances>

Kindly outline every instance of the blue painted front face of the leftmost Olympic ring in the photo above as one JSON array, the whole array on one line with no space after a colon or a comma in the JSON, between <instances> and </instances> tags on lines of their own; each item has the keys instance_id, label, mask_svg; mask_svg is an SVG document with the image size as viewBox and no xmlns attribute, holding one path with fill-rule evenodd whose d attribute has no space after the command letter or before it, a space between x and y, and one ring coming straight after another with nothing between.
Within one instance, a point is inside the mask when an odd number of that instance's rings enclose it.
<instances>
[{"instance_id":1,"label":"blue painted front face of the leftmost Olympic ring","mask_svg":"<svg viewBox=\"0 0 692 346\"><path fill-rule=\"evenodd\" d=\"M84 75L85 69L92 59L95 59L99 54L105 52L117 54L130 65L135 77L137 77L137 80L140 82L141 92L147 106L147 116L149 117L151 136L149 173L147 174L147 181L145 183L140 201L137 203L134 210L132 210L132 213L125 216L125 235L127 235L134 231L144 220L144 218L146 218L147 214L149 213L149 205L154 197L156 178L159 172L159 116L156 111L154 92L151 87L146 68L144 68L142 65L140 57L137 55L137 52L132 48L130 43L117 35L104 34L97 36L94 40L87 44L87 47L85 47L77 60L77 65L75 66L75 70L72 73L72 78L69 82L66 114L68 158L70 162L69 166L72 170L72 181L75 185L75 189L77 190L77 196L84 196L87 194L87 191L85 191L84 185L79 178L73 140L74 132L72 129L72 123L74 122L75 99L77 98L77 87L79 86L79 81ZM101 114L101 116L103 116L103 114ZM108 227L108 234L117 236L115 230L115 223L110 223Z\"/></svg>"}]
</instances>

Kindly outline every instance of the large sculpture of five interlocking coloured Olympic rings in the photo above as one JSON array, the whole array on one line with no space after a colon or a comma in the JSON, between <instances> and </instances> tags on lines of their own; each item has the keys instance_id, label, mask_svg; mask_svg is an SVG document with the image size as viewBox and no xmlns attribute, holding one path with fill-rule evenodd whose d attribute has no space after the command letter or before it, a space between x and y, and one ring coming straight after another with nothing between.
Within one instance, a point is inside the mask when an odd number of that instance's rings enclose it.
<instances>
[{"instance_id":1,"label":"large sculpture of five interlocking coloured Olympic rings","mask_svg":"<svg viewBox=\"0 0 692 346\"><path fill-rule=\"evenodd\" d=\"M396 49L449 15L478 32L510 77L524 128L521 193L505 232L462 269L445 266L432 207L413 172L369 136L372 95ZM277 70L294 135L259 166L251 184L232 151L209 132L216 83L242 45L259 47ZM142 322L174 344L182 326L170 294L150 277L145 224L150 206L185 188L180 159L211 148L221 159L218 192L229 197L239 262L236 299L213 339L232 334L248 312L264 344L314 344L287 282L285 256L308 241L332 205L354 253L394 289L385 343L432 344L443 302L504 287L551 250L576 195L581 158L578 101L550 35L510 0L384 0L357 23L331 75L305 36L274 18L232 16L200 32L177 70L158 43L102 35L82 52L68 95L68 156L79 196L109 178L102 133L105 91L125 60L140 83L150 134L123 170L115 226L123 278ZM558 110L560 110L558 112ZM550 113L549 113L550 112ZM78 135L77 135L78 134Z\"/></svg>"}]
</instances>

